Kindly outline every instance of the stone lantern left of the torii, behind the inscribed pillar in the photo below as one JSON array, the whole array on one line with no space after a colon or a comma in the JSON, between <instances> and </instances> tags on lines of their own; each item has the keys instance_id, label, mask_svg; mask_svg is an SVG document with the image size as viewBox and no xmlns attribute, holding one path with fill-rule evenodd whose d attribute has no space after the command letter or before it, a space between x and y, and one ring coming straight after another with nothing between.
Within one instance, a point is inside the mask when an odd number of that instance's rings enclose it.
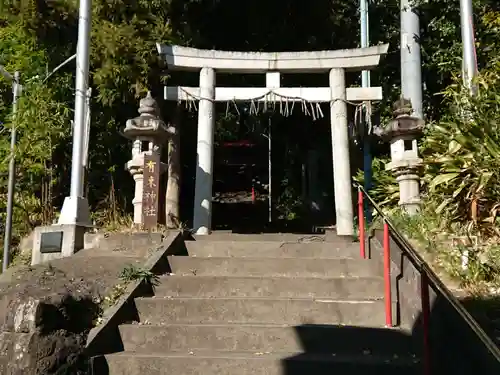
<instances>
[{"instance_id":1,"label":"stone lantern left of the torii, behind the inscribed pillar","mask_svg":"<svg viewBox=\"0 0 500 375\"><path fill-rule=\"evenodd\" d=\"M157 160L158 175L154 181L156 191L155 200L158 202L159 175L167 169L165 163L160 162L162 146L166 144L170 129L160 118L158 103L148 92L139 103L139 116L126 122L123 135L132 140L132 159L126 164L135 181L135 194L132 204L134 205L134 224L144 224L143 196L144 196L144 172L145 164L151 165L152 160ZM147 159L147 160L146 160ZM156 162L155 162L156 163ZM152 178L152 177L149 177ZM153 186L153 183L151 183ZM149 193L153 194L153 193ZM156 203L157 205L157 203ZM158 208L155 215L158 218Z\"/></svg>"}]
</instances>

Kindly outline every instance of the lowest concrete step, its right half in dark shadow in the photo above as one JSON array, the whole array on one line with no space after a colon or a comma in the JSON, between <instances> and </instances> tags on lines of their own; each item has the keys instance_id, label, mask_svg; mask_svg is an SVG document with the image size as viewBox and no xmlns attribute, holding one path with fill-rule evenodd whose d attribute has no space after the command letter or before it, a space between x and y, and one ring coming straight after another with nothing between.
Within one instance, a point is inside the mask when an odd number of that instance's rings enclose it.
<instances>
[{"instance_id":1,"label":"lowest concrete step, its right half in dark shadow","mask_svg":"<svg viewBox=\"0 0 500 375\"><path fill-rule=\"evenodd\" d=\"M123 353L93 359L94 375L405 375L421 374L414 359L297 353Z\"/></svg>"}]
</instances>

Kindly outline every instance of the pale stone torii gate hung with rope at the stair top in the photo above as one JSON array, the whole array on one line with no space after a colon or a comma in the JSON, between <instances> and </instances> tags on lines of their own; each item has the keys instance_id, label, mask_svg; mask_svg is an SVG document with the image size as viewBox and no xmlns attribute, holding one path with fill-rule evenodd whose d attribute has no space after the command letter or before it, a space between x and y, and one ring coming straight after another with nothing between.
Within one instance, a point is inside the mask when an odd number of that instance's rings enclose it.
<instances>
[{"instance_id":1,"label":"pale stone torii gate hung with rope at the stair top","mask_svg":"<svg viewBox=\"0 0 500 375\"><path fill-rule=\"evenodd\" d=\"M157 44L169 70L197 71L199 87L165 87L165 99L198 101L194 230L211 231L215 102L330 103L332 159L338 235L354 234L347 103L382 99L380 87L346 88L345 72L376 67L388 44L317 52L232 52ZM266 74L266 87L216 87L216 72ZM329 72L329 87L280 87L280 73Z\"/></svg>"}]
</instances>

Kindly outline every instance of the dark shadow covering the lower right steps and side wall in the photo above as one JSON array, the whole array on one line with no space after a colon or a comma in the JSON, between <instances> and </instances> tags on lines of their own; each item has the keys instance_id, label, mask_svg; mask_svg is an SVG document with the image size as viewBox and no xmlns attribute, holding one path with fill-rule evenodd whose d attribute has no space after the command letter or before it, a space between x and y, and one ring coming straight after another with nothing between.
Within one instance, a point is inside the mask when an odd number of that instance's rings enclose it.
<instances>
[{"instance_id":1,"label":"dark shadow covering the lower right steps and side wall","mask_svg":"<svg viewBox=\"0 0 500 375\"><path fill-rule=\"evenodd\" d=\"M495 338L495 333L498 335L499 332L495 321L500 315L500 298L467 299L463 303L483 329ZM404 372L424 375L500 373L499 360L444 297L437 295L434 299L429 322L427 348L424 346L422 315L417 317L407 334L391 329L329 326L321 337L321 330L316 330L316 326L294 327L303 353L283 359L281 374L327 374L335 371L339 374L361 374L362 371L369 371L370 374ZM496 339L498 344L498 337ZM318 353L330 353L330 358L318 359ZM334 358L331 353L336 353ZM360 353L361 357L358 356Z\"/></svg>"}]
</instances>

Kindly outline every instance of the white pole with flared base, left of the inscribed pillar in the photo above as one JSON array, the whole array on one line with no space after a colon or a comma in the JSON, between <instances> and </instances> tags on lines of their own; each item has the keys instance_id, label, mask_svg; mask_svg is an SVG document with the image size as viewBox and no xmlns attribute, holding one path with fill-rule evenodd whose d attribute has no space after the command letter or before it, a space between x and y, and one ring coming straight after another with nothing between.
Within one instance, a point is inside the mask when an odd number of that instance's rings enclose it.
<instances>
[{"instance_id":1,"label":"white pole with flared base, left of the inscribed pillar","mask_svg":"<svg viewBox=\"0 0 500 375\"><path fill-rule=\"evenodd\" d=\"M71 193L64 200L59 224L90 226L90 213L83 193L83 156L86 136L86 102L89 79L92 0L80 0L76 51L75 117L71 161Z\"/></svg>"}]
</instances>

